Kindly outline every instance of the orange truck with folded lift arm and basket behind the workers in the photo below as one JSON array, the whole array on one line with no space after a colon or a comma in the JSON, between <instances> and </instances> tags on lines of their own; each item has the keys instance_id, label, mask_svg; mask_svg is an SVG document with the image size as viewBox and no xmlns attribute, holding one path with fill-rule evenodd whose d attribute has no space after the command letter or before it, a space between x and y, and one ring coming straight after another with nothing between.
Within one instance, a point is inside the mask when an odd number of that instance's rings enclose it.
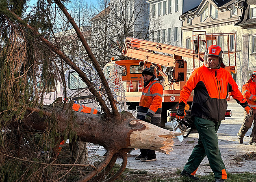
<instances>
[{"instance_id":1,"label":"orange truck with folded lift arm and basket behind the workers","mask_svg":"<svg viewBox=\"0 0 256 182\"><path fill-rule=\"evenodd\" d=\"M191 40L193 49L186 49L137 38L126 38L122 49L122 55L129 59L113 59L104 66L103 71L107 77L109 68L114 64L123 68L121 75L125 88L126 104L128 105L128 110L136 110L139 106L141 97L141 85L143 85L141 72L145 67L153 66L155 68L155 75L161 80L164 88L161 116L161 127L164 127L167 121L175 118L180 91L187 81L187 61L185 61L183 57L190 58L190 60L193 61L193 69L196 69L199 66L202 66L204 61L203 48L207 48L209 44L217 44L219 36L227 37L226 45L228 46L230 35L234 38L236 36L235 33L206 34L206 32L193 32L193 38ZM228 49L228 51L224 51L223 54L228 55L228 60L226 61L227 66L225 69L231 74L236 73L236 47L235 50L229 51ZM231 64L230 57L232 57L233 64ZM222 66L224 67L224 65ZM193 92L188 99L188 104L190 106L192 101ZM187 116L189 116L190 110L186 113ZM231 116L231 110L227 110L226 116Z\"/></svg>"}]
</instances>

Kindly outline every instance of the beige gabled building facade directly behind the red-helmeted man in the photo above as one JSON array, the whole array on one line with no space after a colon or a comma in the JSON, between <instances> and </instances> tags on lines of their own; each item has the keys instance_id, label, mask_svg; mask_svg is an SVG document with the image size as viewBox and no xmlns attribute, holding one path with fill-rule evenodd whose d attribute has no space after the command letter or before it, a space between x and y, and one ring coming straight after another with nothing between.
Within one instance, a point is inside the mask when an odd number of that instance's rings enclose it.
<instances>
[{"instance_id":1,"label":"beige gabled building facade directly behind the red-helmeted man","mask_svg":"<svg viewBox=\"0 0 256 182\"><path fill-rule=\"evenodd\" d=\"M205 44L200 44L200 51L204 52L206 47L210 44L218 44L227 53L230 53L230 59L228 55L224 54L223 63L228 66L236 64L237 74L232 74L233 78L242 89L244 84L244 77L247 72L242 69L243 67L243 36L245 30L240 26L235 26L236 23L241 21L243 15L243 4L244 0L203 0L201 4L183 15L180 16L182 19L182 47L193 49L193 34L204 34L206 33L227 33L226 36L219 34L216 36L216 41L206 41ZM202 31L202 32L200 32ZM230 34L230 33L236 33ZM204 36L200 36L204 38ZM195 40L195 36L194 36ZM236 42L236 44L235 44ZM236 52L236 59L235 54ZM235 63L236 61L236 63ZM193 71L193 61L187 59L188 70L191 73ZM200 66L202 63L200 64ZM198 65L196 66L198 67Z\"/></svg>"}]
</instances>

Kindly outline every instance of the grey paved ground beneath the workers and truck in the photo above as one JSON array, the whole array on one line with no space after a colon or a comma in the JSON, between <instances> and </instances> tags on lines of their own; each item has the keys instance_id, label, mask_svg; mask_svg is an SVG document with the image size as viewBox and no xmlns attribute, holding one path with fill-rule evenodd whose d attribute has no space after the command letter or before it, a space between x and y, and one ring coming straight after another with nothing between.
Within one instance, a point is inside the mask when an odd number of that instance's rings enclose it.
<instances>
[{"instance_id":1,"label":"grey paved ground beneath the workers and truck","mask_svg":"<svg viewBox=\"0 0 256 182\"><path fill-rule=\"evenodd\" d=\"M256 152L256 146L248 144L249 135L252 131L250 129L244 138L244 144L238 144L236 133L241 127L243 121L243 108L236 103L236 101L228 101L228 109L232 110L232 116L222 121L218 131L219 148L221 150L222 159L226 165L228 172L256 172L256 161L242 161L237 162L234 157L239 157L242 154L249 152ZM167 126L169 123L167 124ZM127 168L146 170L150 174L164 174L175 172L177 169L183 169L184 164L187 162L193 147L197 144L198 134L192 132L188 138L185 138L182 143L175 138L174 151L170 155L156 152L157 161L141 162L135 160L135 156L139 154L139 149L133 150L128 157ZM117 159L117 163L121 163L121 159ZM205 175L212 172L208 165L207 157L202 161L202 164L197 170L197 174Z\"/></svg>"}]
</instances>

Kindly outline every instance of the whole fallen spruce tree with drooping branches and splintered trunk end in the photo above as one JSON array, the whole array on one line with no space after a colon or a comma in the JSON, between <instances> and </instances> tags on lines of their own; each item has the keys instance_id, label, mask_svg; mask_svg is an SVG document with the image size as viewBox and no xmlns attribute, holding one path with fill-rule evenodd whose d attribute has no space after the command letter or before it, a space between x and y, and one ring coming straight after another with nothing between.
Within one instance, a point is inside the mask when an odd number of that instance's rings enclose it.
<instances>
[{"instance_id":1,"label":"whole fallen spruce tree with drooping branches and splintered trunk end","mask_svg":"<svg viewBox=\"0 0 256 182\"><path fill-rule=\"evenodd\" d=\"M72 24L77 37L87 51L88 57L98 72L111 109L106 106L105 100L90 78L56 44L50 42L44 34L39 33L37 28L29 25L17 15L18 13L14 13L17 8L11 11L8 4L0 4L0 13L4 15L7 22L5 25L2 24L2 28L10 28L5 35L8 41L1 51L2 89L0 95L3 97L0 112L0 179L2 181L60 180L71 170L66 170L64 174L59 168L53 170L54 166L64 166L64 164L57 163L56 159L60 142L67 138L70 140L78 138L83 142L99 144L107 151L105 158L99 164L83 165L91 167L91 171L81 177L78 180L80 182L99 181L111 170L117 157L120 156L122 158L120 169L107 179L107 181L115 180L124 171L127 152L131 148L148 148L169 154L174 143L172 138L180 133L135 119L129 112L118 112L113 93L80 29L61 1L54 0L54 2L67 17L68 22ZM40 105L38 100L43 97L43 94L38 93L35 81L38 78L35 69L38 67L39 58L30 55L35 54L37 49L44 50L41 54L49 52L48 58L49 56L59 57L63 61L61 63L74 69L95 96L103 114L74 112L73 102L63 102L62 98L57 99L50 106ZM39 97L35 97L36 95ZM35 140L36 133L40 134L38 143ZM50 161L37 160L35 150L42 148L52 149ZM16 165L15 170L13 170L13 164ZM65 166L76 165L79 164L73 163ZM48 168L52 170L47 170Z\"/></svg>"}]
</instances>

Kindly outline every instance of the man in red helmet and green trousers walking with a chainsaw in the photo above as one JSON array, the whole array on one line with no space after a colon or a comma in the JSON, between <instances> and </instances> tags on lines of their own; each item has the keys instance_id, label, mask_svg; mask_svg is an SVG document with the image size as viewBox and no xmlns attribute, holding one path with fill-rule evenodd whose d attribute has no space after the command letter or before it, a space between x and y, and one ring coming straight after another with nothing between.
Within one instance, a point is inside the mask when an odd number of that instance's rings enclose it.
<instances>
[{"instance_id":1,"label":"man in red helmet and green trousers walking with a chainsaw","mask_svg":"<svg viewBox=\"0 0 256 182\"><path fill-rule=\"evenodd\" d=\"M216 133L221 120L225 119L228 93L243 106L248 117L252 113L246 98L239 91L231 74L221 68L222 61L223 51L221 47L209 46L204 54L204 65L193 71L180 92L177 119L184 118L184 106L187 104L192 90L194 90L191 118L198 131L199 139L181 172L182 176L188 176L193 180L199 180L194 175L205 156L207 156L215 175L215 182L227 179L226 167L221 159Z\"/></svg>"}]
</instances>

